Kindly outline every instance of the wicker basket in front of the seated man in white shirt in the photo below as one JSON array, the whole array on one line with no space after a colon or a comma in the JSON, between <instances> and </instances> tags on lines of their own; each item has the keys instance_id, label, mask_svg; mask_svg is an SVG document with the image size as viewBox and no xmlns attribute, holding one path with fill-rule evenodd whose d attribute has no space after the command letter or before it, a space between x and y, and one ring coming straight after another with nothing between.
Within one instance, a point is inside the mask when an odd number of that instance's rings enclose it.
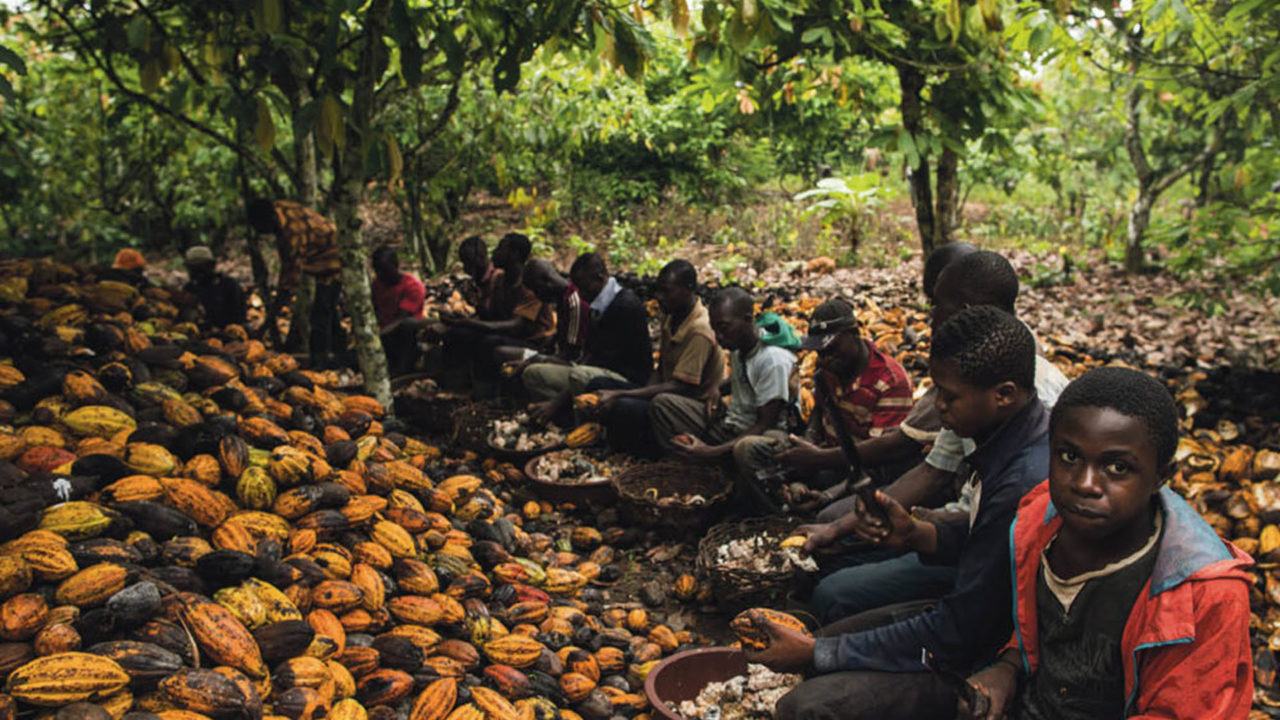
<instances>
[{"instance_id":1,"label":"wicker basket in front of the seated man in white shirt","mask_svg":"<svg viewBox=\"0 0 1280 720\"><path fill-rule=\"evenodd\" d=\"M680 532L705 527L733 483L714 465L646 462L616 477L613 487L627 519ZM701 496L703 501L673 502L676 495Z\"/></svg>"}]
</instances>

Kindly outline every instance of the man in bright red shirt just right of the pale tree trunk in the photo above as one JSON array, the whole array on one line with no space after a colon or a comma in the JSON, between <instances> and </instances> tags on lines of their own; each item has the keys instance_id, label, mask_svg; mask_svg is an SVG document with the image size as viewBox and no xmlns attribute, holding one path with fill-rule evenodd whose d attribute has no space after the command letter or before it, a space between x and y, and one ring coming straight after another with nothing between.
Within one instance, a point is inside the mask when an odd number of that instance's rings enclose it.
<instances>
[{"instance_id":1,"label":"man in bright red shirt just right of the pale tree trunk","mask_svg":"<svg viewBox=\"0 0 1280 720\"><path fill-rule=\"evenodd\" d=\"M399 258L389 245L374 251L372 295L388 372L392 377L412 373L421 354L417 329L422 325L426 287L399 270Z\"/></svg>"}]
</instances>

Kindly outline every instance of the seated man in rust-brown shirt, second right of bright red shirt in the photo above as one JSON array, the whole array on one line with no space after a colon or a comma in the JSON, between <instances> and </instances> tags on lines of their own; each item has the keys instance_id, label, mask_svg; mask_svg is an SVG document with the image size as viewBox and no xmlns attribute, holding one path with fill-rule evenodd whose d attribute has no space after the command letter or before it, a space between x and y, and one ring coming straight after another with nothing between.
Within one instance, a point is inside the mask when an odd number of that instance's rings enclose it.
<instances>
[{"instance_id":1,"label":"seated man in rust-brown shirt, second right of bright red shirt","mask_svg":"<svg viewBox=\"0 0 1280 720\"><path fill-rule=\"evenodd\" d=\"M524 283L525 264L532 247L520 233L507 233L493 251L493 264L502 275L493 283L485 315L442 318L445 369L465 372L474 384L498 377L499 347L540 350L556 332L556 310L538 299ZM488 388L474 387L484 393Z\"/></svg>"}]
</instances>

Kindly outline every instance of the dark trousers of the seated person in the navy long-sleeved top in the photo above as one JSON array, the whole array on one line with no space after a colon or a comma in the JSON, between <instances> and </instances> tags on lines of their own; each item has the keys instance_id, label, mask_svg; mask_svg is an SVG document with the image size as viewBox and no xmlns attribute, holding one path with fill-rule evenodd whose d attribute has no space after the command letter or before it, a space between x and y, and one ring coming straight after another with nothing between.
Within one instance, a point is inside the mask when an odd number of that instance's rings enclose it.
<instances>
[{"instance_id":1,"label":"dark trousers of the seated person in the navy long-sleeved top","mask_svg":"<svg viewBox=\"0 0 1280 720\"><path fill-rule=\"evenodd\" d=\"M863 612L824 626L818 637L870 630L923 612L914 602ZM828 673L800 683L778 701L774 720L951 720L956 687L933 673Z\"/></svg>"}]
</instances>

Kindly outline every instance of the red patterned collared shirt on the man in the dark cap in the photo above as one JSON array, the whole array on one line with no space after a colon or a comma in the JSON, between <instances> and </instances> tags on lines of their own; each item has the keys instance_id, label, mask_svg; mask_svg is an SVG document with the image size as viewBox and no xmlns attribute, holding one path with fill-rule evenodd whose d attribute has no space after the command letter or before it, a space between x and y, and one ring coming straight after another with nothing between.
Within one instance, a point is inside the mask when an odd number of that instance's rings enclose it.
<instances>
[{"instance_id":1,"label":"red patterned collared shirt on the man in the dark cap","mask_svg":"<svg viewBox=\"0 0 1280 720\"><path fill-rule=\"evenodd\" d=\"M845 427L854 439L879 437L896 428L911 410L911 378L902 365L881 352L876 343L867 343L867 368L849 383L837 384L832 400L845 418ZM836 442L836 428L822 415L822 433L827 443Z\"/></svg>"}]
</instances>

